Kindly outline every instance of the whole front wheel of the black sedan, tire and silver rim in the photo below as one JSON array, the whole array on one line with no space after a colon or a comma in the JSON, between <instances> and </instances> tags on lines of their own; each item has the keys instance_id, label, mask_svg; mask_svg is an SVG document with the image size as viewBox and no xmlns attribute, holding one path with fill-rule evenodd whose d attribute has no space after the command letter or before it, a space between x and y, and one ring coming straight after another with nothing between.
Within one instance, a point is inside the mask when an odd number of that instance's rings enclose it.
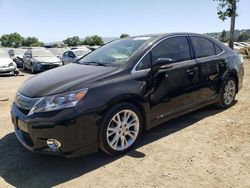
<instances>
[{"instance_id":1,"label":"whole front wheel of the black sedan, tire and silver rim","mask_svg":"<svg viewBox=\"0 0 250 188\"><path fill-rule=\"evenodd\" d=\"M99 148L113 156L128 152L141 137L142 123L141 113L133 104L121 103L114 106L102 118L98 136Z\"/></svg>"}]
</instances>

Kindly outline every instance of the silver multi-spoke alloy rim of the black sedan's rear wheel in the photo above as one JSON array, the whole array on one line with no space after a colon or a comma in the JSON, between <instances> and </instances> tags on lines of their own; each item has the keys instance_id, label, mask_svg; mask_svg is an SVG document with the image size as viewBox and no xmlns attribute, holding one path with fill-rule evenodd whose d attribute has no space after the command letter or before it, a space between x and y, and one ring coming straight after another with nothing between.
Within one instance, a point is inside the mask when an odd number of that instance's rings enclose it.
<instances>
[{"instance_id":1,"label":"silver multi-spoke alloy rim of the black sedan's rear wheel","mask_svg":"<svg viewBox=\"0 0 250 188\"><path fill-rule=\"evenodd\" d=\"M230 105L235 97L236 87L233 80L229 80L225 85L223 99L226 105Z\"/></svg>"}]
</instances>

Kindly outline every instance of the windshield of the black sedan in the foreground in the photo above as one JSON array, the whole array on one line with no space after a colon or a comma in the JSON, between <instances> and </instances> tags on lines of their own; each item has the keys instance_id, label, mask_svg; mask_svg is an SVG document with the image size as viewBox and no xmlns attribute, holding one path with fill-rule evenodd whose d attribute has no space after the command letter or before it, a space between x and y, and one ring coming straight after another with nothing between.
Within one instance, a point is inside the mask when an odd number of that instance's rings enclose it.
<instances>
[{"instance_id":1,"label":"windshield of the black sedan in the foreground","mask_svg":"<svg viewBox=\"0 0 250 188\"><path fill-rule=\"evenodd\" d=\"M123 66L138 48L152 37L134 37L113 41L78 60L80 64Z\"/></svg>"}]
</instances>

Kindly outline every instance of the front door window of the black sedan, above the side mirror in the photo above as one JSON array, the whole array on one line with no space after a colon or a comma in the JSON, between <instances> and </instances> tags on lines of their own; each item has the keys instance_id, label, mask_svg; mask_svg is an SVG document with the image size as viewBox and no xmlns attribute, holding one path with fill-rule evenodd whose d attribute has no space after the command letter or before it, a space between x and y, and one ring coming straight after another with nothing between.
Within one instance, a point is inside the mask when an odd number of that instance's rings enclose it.
<instances>
[{"instance_id":1,"label":"front door window of the black sedan, above the side mirror","mask_svg":"<svg viewBox=\"0 0 250 188\"><path fill-rule=\"evenodd\" d=\"M153 61L170 58L175 62L191 59L187 37L173 37L164 40L152 50Z\"/></svg>"}]
</instances>

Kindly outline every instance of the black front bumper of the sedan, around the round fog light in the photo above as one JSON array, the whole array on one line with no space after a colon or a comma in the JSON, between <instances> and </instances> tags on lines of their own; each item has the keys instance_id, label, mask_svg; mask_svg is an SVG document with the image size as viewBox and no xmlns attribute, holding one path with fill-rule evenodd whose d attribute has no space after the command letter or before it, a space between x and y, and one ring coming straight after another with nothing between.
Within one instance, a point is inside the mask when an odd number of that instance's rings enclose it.
<instances>
[{"instance_id":1,"label":"black front bumper of the sedan, around the round fog light","mask_svg":"<svg viewBox=\"0 0 250 188\"><path fill-rule=\"evenodd\" d=\"M98 151L95 116L79 115L71 108L29 117L14 103L11 117L18 140L30 151L65 157ZM58 140L61 147L56 150L49 148L48 139Z\"/></svg>"}]
</instances>

